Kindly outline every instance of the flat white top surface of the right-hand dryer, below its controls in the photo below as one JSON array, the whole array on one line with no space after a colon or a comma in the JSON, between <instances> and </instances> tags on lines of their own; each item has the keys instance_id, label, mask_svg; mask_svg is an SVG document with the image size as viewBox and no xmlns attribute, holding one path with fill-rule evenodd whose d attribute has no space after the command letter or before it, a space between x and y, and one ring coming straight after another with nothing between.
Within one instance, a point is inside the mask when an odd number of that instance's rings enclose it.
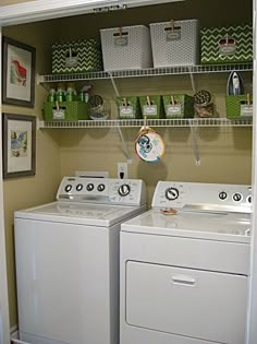
<instances>
[{"instance_id":1,"label":"flat white top surface of the right-hand dryer, below its controls","mask_svg":"<svg viewBox=\"0 0 257 344\"><path fill-rule=\"evenodd\" d=\"M250 241L250 215L244 213L179 210L164 215L150 210L121 226L122 232L231 242Z\"/></svg>"}]
</instances>

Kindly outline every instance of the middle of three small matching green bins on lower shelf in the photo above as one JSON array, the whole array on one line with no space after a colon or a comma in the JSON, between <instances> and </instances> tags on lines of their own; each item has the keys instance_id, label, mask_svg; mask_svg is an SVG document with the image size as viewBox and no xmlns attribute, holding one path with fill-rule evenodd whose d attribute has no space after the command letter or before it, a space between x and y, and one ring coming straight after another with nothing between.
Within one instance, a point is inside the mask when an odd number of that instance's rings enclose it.
<instances>
[{"instance_id":1,"label":"middle of three small matching green bins on lower shelf","mask_svg":"<svg viewBox=\"0 0 257 344\"><path fill-rule=\"evenodd\" d=\"M148 105L148 98L150 100L150 105ZM149 119L164 118L162 96L159 95L140 96L139 103L143 116L146 116Z\"/></svg>"}]
</instances>

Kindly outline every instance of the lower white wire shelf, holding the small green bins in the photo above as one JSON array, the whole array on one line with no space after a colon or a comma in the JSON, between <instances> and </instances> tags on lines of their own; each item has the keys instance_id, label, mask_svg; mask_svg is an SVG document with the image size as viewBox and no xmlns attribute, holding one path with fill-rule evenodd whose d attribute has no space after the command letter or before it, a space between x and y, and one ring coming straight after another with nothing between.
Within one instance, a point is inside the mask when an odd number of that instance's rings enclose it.
<instances>
[{"instance_id":1,"label":"lower white wire shelf, holding the small green bins","mask_svg":"<svg viewBox=\"0 0 257 344\"><path fill-rule=\"evenodd\" d=\"M78 121L39 121L38 128L79 129L79 128L135 128L143 127L143 119L109 119L109 120L78 120ZM227 119L227 118L192 118L192 119L148 119L149 127L252 127L252 119Z\"/></svg>"}]
</instances>

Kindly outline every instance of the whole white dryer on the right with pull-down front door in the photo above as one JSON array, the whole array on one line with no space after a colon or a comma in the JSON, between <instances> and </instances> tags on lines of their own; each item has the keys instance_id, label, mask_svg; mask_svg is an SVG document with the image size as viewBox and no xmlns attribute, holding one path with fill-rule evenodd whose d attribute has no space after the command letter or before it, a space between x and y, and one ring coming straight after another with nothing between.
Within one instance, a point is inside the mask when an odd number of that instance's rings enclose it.
<instances>
[{"instance_id":1,"label":"whole white dryer on the right with pull-down front door","mask_svg":"<svg viewBox=\"0 0 257 344\"><path fill-rule=\"evenodd\" d=\"M120 344L244 344L250 188L160 181L121 226Z\"/></svg>"}]
</instances>

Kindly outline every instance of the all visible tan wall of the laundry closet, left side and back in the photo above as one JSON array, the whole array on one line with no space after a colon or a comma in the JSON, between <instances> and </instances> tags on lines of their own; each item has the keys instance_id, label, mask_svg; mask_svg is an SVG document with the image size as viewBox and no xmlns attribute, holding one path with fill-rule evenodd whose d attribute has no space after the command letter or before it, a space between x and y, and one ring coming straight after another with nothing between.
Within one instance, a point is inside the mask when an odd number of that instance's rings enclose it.
<instances>
[{"instance_id":1,"label":"all visible tan wall of the laundry closet, left side and back","mask_svg":"<svg viewBox=\"0 0 257 344\"><path fill-rule=\"evenodd\" d=\"M2 3L2 2L1 2ZM231 11L233 5L233 11ZM221 11L222 9L222 11ZM224 15L222 15L222 13ZM229 19L227 13L230 13ZM201 25L246 22L252 20L252 1L187 0L175 4L155 5L99 15L81 15L49 22L38 22L4 28L4 35L36 47L37 72L51 72L51 43L72 38L98 37L100 27L147 24L174 19L198 17ZM227 74L196 75L196 88L207 88L213 96L216 115L225 116L224 93ZM243 74L250 90L249 73ZM88 84L82 82L77 87ZM111 105L111 118L117 118L114 92L110 81L94 82L94 92ZM117 80L121 95L163 94L183 92L193 94L188 75ZM47 90L36 86L34 109L3 106L3 111L41 117ZM131 178L145 179L150 203L159 179L203 182L249 183L252 174L250 128L199 128L198 149L200 166L195 165L189 128L163 128L166 154L158 164L140 162L134 152L134 140L139 128L122 129L132 164ZM13 212L53 199L60 178L74 170L109 170L117 176L117 163L125 162L121 140L115 129L63 129L37 131L36 176L4 181L7 259L11 325L17 322L13 253Z\"/></svg>"}]
</instances>

